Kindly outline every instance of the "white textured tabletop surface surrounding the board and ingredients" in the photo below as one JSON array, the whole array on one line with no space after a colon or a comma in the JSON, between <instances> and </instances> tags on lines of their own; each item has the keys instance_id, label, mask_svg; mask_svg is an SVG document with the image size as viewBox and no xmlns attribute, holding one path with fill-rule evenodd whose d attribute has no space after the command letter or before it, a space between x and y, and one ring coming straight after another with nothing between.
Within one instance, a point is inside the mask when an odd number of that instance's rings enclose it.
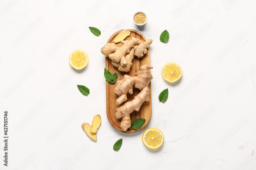
<instances>
[{"instance_id":1,"label":"white textured tabletop surface surrounding the board and ingredients","mask_svg":"<svg viewBox=\"0 0 256 170\"><path fill-rule=\"evenodd\" d=\"M255 170L255 5L254 0L2 0L0 169ZM148 15L144 28L132 22L137 11ZM88 27L100 29L101 35L93 35ZM121 29L153 39L152 117L133 134L115 130L106 117L105 57L100 48ZM165 29L170 38L163 44L159 36ZM81 71L68 61L77 49L89 56ZM160 73L168 62L183 70L173 84ZM90 95L83 96L77 84L87 86ZM159 103L165 88L169 97ZM8 167L2 162L4 111ZM94 142L81 124L91 123L96 114L102 124ZM165 137L157 150L141 141L152 127ZM123 145L114 152L120 138Z\"/></svg>"}]
</instances>

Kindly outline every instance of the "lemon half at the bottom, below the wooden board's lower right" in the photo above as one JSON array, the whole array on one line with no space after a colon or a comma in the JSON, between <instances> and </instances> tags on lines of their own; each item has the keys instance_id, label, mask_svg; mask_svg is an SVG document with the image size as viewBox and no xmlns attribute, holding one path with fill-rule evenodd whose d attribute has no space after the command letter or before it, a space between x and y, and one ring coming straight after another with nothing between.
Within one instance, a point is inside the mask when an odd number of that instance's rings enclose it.
<instances>
[{"instance_id":1,"label":"lemon half at the bottom, below the wooden board's lower right","mask_svg":"<svg viewBox=\"0 0 256 170\"><path fill-rule=\"evenodd\" d=\"M163 145L164 135L159 129L149 128L144 132L142 141L149 149L157 149Z\"/></svg>"}]
</instances>

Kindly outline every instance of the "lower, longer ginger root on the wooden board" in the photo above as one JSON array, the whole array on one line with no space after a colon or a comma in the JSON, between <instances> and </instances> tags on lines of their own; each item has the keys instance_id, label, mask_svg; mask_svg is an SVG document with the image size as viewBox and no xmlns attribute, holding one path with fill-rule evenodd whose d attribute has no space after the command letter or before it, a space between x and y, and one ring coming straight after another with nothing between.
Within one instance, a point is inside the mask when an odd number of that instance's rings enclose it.
<instances>
[{"instance_id":1,"label":"lower, longer ginger root on the wooden board","mask_svg":"<svg viewBox=\"0 0 256 170\"><path fill-rule=\"evenodd\" d=\"M149 101L148 84L153 79L152 74L150 73L150 69L152 68L152 66L144 64L134 76L131 77L125 74L123 80L117 81L116 83L114 91L119 96L119 98L116 99L116 104L121 104L126 101L127 93L133 94L133 86L141 90L132 101L129 101L116 109L116 118L122 118L120 126L123 131L126 131L131 127L130 114L134 110L139 111L144 101Z\"/></svg>"}]
</instances>

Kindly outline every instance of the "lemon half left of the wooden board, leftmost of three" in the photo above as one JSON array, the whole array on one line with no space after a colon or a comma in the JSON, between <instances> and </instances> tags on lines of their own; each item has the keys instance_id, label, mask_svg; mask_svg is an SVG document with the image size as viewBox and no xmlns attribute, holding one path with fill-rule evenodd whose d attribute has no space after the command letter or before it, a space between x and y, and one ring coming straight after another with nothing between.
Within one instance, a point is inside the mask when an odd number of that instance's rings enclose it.
<instances>
[{"instance_id":1,"label":"lemon half left of the wooden board, leftmost of three","mask_svg":"<svg viewBox=\"0 0 256 170\"><path fill-rule=\"evenodd\" d=\"M69 56L70 65L77 70L81 70L88 64L88 56L82 50L76 50Z\"/></svg>"}]
</instances>

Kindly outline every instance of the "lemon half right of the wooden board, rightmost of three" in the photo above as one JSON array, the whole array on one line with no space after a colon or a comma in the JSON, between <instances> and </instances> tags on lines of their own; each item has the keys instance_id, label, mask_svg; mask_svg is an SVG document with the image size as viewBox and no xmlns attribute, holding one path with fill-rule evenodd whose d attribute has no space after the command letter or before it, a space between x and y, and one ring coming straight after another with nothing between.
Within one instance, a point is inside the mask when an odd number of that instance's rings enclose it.
<instances>
[{"instance_id":1,"label":"lemon half right of the wooden board, rightmost of three","mask_svg":"<svg viewBox=\"0 0 256 170\"><path fill-rule=\"evenodd\" d=\"M162 68L162 77L167 82L173 83L180 79L182 76L182 69L180 66L174 62L165 64L165 66Z\"/></svg>"}]
</instances>

